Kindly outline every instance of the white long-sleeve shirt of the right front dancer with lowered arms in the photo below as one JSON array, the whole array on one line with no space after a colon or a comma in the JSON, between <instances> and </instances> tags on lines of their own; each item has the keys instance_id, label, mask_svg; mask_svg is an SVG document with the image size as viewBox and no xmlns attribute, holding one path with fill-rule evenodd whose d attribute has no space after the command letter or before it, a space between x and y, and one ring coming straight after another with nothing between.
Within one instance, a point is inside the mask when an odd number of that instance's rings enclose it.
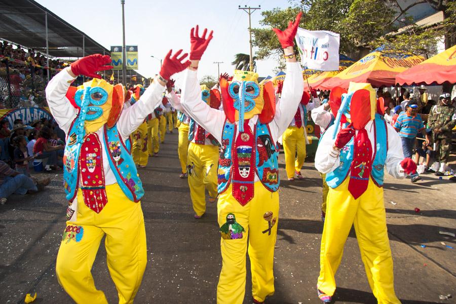
<instances>
[{"instance_id":1,"label":"white long-sleeve shirt of the right front dancer with lowered arms","mask_svg":"<svg viewBox=\"0 0 456 304\"><path fill-rule=\"evenodd\" d=\"M321 139L317 152L315 154L315 168L321 173L329 173L334 171L340 163L339 157L333 158L330 156L329 151L332 150L334 145L335 139L332 139L332 134L334 132L334 128L338 127L336 125L332 125L331 127L326 130L323 138ZM370 144L372 145L372 151L375 150L374 143L374 130L373 130L373 121L369 121L365 126L367 130L367 134L370 140ZM397 134L394 128L387 124L388 130L388 152L387 152L387 159L385 162L385 168L388 173L396 178L404 178L405 174L403 171L400 162L404 159L404 154L402 152L402 143L399 135ZM358 134L358 131L356 131ZM356 136L356 135L355 135ZM373 155L372 155L373 156Z\"/></svg>"}]
</instances>

